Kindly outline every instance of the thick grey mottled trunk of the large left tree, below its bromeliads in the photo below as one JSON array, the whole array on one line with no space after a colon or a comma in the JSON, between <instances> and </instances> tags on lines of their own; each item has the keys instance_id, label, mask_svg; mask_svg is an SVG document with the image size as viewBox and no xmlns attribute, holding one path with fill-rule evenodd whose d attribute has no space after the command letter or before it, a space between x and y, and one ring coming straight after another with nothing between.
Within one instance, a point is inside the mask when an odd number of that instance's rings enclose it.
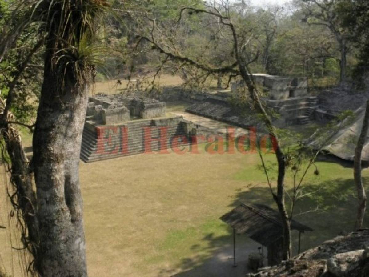
<instances>
[{"instance_id":1,"label":"thick grey mottled trunk of the large left tree, below its bromeliads","mask_svg":"<svg viewBox=\"0 0 369 277\"><path fill-rule=\"evenodd\" d=\"M78 165L90 78L78 83L70 71L61 89L46 51L32 160L40 237L35 263L44 277L87 276Z\"/></svg>"}]
</instances>

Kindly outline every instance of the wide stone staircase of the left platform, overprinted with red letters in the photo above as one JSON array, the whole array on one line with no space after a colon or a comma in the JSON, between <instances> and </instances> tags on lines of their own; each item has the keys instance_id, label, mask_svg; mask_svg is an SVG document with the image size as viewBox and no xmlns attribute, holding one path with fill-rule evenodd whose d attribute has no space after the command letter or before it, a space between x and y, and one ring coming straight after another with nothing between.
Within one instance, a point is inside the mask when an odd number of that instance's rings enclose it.
<instances>
[{"instance_id":1,"label":"wide stone staircase of the left platform, overprinted with red letters","mask_svg":"<svg viewBox=\"0 0 369 277\"><path fill-rule=\"evenodd\" d=\"M175 136L180 136L178 146L182 146L190 143L185 129L185 124L178 119L137 120L119 126L100 127L86 122L80 158L87 163L149 152L148 150L164 150L172 147Z\"/></svg>"}]
</instances>

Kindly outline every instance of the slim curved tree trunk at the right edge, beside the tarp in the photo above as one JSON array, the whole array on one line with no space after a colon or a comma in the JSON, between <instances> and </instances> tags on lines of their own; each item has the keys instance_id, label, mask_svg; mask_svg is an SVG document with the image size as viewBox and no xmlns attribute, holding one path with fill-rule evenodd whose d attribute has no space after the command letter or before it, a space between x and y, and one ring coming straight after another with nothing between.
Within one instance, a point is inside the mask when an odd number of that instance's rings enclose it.
<instances>
[{"instance_id":1,"label":"slim curved tree trunk at the right edge, beside the tarp","mask_svg":"<svg viewBox=\"0 0 369 277\"><path fill-rule=\"evenodd\" d=\"M360 229L363 225L365 208L366 208L366 194L363 182L361 179L361 154L365 145L366 136L369 129L369 100L366 102L365 116L363 119L363 127L355 148L354 156L354 180L356 190L358 191L358 213L356 215L355 230Z\"/></svg>"}]
</instances>

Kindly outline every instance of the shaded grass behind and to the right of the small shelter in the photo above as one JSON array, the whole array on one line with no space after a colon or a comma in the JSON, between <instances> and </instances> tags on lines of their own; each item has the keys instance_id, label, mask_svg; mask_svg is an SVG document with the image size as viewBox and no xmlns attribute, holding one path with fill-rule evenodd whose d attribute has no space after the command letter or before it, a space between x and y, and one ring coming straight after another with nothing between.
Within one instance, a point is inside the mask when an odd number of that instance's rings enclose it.
<instances>
[{"instance_id":1,"label":"shaded grass behind and to the right of the small shelter","mask_svg":"<svg viewBox=\"0 0 369 277\"><path fill-rule=\"evenodd\" d=\"M363 183L369 184L369 177L363 178ZM309 226L314 231L302 234L301 251L353 231L357 209L353 179L340 178L305 185L303 193L308 196L296 202L293 219ZM290 203L287 199L286 197L286 205L289 208ZM262 203L277 209L270 197L269 188L265 187L255 187L250 191L238 193L231 206L237 206L240 202ZM369 222L368 212L365 215L364 225L365 222ZM298 232L292 232L292 236L293 254L296 255Z\"/></svg>"}]
</instances>

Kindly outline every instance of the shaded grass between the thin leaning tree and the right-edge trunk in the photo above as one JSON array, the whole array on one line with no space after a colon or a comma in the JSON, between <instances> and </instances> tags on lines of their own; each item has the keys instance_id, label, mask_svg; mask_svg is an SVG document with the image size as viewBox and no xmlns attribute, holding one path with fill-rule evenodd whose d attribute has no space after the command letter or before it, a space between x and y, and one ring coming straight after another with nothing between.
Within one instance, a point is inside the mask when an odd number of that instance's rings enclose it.
<instances>
[{"instance_id":1,"label":"shaded grass between the thin leaning tree and the right-edge trunk","mask_svg":"<svg viewBox=\"0 0 369 277\"><path fill-rule=\"evenodd\" d=\"M363 178L363 183L368 184L369 177ZM302 250L354 231L357 199L353 179L334 179L306 186L304 193L312 194L297 202L297 216L294 219L310 226L314 232L304 234ZM315 212L298 215L317 207ZM369 215L366 212L364 227L368 226L368 221Z\"/></svg>"}]
</instances>

